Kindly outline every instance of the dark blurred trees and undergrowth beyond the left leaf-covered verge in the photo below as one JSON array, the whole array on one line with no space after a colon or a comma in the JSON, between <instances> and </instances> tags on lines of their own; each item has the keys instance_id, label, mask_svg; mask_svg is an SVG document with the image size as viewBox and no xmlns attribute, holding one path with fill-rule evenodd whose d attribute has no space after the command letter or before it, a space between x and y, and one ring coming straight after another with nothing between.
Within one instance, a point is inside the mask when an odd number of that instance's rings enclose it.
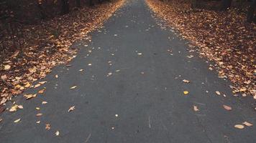
<instances>
[{"instance_id":1,"label":"dark blurred trees and undergrowth beyond the left leaf-covered verge","mask_svg":"<svg viewBox=\"0 0 256 143\"><path fill-rule=\"evenodd\" d=\"M69 14L82 7L94 9L105 0L1 0L0 54L3 51L22 50L25 44L24 26L40 24L56 16ZM107 0L106 0L107 1ZM40 33L38 34L40 36Z\"/></svg>"}]
</instances>

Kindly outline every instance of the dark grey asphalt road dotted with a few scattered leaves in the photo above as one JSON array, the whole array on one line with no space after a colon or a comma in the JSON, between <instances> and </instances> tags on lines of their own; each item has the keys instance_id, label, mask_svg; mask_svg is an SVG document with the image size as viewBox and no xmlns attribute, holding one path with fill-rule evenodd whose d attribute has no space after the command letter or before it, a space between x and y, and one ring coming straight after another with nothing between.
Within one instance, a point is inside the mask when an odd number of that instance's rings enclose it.
<instances>
[{"instance_id":1,"label":"dark grey asphalt road dotted with a few scattered leaves","mask_svg":"<svg viewBox=\"0 0 256 143\"><path fill-rule=\"evenodd\" d=\"M91 34L88 47L74 44L80 50L72 66L55 67L42 80L47 81L43 95L14 98L24 109L1 114L0 142L255 143L254 126L234 128L244 121L256 125L253 99L233 97L230 82L219 79L209 63L188 51L188 41L161 28L151 15L145 1L129 1ZM68 112L71 106L76 109ZM39 112L42 117L35 116Z\"/></svg>"}]
</instances>

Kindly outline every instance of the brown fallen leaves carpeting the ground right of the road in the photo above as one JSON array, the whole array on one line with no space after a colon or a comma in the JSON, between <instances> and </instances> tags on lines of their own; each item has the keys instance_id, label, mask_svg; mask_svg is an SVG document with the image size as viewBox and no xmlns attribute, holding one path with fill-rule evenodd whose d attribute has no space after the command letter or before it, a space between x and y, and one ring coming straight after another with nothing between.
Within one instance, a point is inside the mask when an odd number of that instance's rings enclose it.
<instances>
[{"instance_id":1,"label":"brown fallen leaves carpeting the ground right of the road","mask_svg":"<svg viewBox=\"0 0 256 143\"><path fill-rule=\"evenodd\" d=\"M191 9L189 4L172 1L147 0L150 9L168 26L178 29L191 41L190 47L200 56L214 61L220 78L228 78L234 95L248 94L256 99L255 53L256 25L246 22L246 15L235 9L209 11Z\"/></svg>"}]
</instances>

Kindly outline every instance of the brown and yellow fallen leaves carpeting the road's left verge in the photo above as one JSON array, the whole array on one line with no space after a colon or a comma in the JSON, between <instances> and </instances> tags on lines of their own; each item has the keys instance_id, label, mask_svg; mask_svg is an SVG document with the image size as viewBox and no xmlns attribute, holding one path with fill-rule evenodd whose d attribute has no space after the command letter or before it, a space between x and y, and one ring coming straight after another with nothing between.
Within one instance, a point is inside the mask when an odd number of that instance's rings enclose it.
<instances>
[{"instance_id":1,"label":"brown and yellow fallen leaves carpeting the road's left verge","mask_svg":"<svg viewBox=\"0 0 256 143\"><path fill-rule=\"evenodd\" d=\"M40 24L24 26L24 45L14 52L1 53L0 105L35 87L33 82L42 79L53 66L65 64L75 57L71 49L74 41L87 39L93 29L99 28L124 1L117 0L94 7L83 7L70 14L55 17Z\"/></svg>"}]
</instances>

